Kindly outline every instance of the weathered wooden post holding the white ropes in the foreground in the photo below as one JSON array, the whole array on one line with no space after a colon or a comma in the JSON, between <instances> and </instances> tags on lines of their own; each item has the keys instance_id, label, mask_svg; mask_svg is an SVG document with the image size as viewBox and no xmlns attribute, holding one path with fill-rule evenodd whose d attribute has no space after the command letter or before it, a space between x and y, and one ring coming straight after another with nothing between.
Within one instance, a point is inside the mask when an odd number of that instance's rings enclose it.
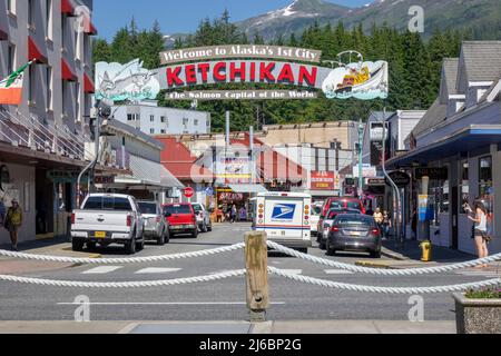
<instances>
[{"instance_id":1,"label":"weathered wooden post holding the white ropes in the foreground","mask_svg":"<svg viewBox=\"0 0 501 356\"><path fill-rule=\"evenodd\" d=\"M266 309L269 307L266 233L252 231L245 234L245 265L250 323L264 323L266 322Z\"/></svg>"}]
</instances>

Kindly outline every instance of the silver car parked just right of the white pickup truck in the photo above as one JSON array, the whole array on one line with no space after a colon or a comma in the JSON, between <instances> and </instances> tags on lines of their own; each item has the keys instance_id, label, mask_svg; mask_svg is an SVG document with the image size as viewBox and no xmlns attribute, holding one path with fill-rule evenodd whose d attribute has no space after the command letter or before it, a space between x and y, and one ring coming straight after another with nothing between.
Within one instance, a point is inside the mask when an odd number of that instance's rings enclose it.
<instances>
[{"instance_id":1,"label":"silver car parked just right of the white pickup truck","mask_svg":"<svg viewBox=\"0 0 501 356\"><path fill-rule=\"evenodd\" d=\"M157 201L138 201L139 211L144 220L144 237L146 241L156 241L163 246L170 240L169 222Z\"/></svg>"}]
</instances>

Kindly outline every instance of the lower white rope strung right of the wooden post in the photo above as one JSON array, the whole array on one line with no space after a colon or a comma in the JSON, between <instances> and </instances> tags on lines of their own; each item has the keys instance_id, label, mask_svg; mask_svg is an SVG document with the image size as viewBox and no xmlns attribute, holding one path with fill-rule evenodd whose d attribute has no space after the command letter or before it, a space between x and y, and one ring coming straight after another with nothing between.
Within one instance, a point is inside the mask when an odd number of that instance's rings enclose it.
<instances>
[{"instance_id":1,"label":"lower white rope strung right of the wooden post","mask_svg":"<svg viewBox=\"0 0 501 356\"><path fill-rule=\"evenodd\" d=\"M454 286L440 286L440 287L373 287L373 286L360 286L350 285L344 283L331 281L325 279L317 279L312 277L306 277L297 274L292 274L284 271L274 267L268 267L268 271L273 275L284 277L294 281L311 284L315 286L321 286L324 288L342 289L350 291L362 291L362 293L377 293L377 294L400 294L400 295L422 295L422 294L440 294L440 293L453 293L453 291L464 291L470 288L483 288L498 286L501 284L501 278L490 279L478 283L454 285Z\"/></svg>"}]
</instances>

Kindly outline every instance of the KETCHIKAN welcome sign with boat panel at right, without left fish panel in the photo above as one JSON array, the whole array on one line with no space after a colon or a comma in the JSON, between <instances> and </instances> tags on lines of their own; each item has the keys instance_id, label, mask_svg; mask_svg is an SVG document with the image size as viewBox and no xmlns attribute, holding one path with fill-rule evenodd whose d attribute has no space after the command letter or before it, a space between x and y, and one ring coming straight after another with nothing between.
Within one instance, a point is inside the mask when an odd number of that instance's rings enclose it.
<instances>
[{"instance_id":1,"label":"KETCHIKAN welcome sign with boat panel at right, without left fish panel","mask_svg":"<svg viewBox=\"0 0 501 356\"><path fill-rule=\"evenodd\" d=\"M343 63L342 56L350 53ZM357 61L352 62L352 53ZM170 100L314 99L322 90L330 99L385 99L389 66L366 62L355 51L338 55L331 67L320 67L322 52L277 46L214 46L160 53L166 67L151 71ZM334 65L337 67L334 68ZM230 83L283 85L291 90L191 91L200 86ZM185 89L185 91L179 91Z\"/></svg>"}]
</instances>

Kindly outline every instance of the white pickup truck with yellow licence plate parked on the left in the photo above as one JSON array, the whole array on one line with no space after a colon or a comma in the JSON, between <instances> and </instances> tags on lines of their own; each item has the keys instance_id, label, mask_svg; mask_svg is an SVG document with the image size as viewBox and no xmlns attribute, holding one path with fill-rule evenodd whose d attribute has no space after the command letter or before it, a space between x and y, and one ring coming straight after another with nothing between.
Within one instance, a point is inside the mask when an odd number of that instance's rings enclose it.
<instances>
[{"instance_id":1,"label":"white pickup truck with yellow licence plate parked on the left","mask_svg":"<svg viewBox=\"0 0 501 356\"><path fill-rule=\"evenodd\" d=\"M136 199L126 195L91 194L71 214L71 245L79 251L87 244L124 245L134 255L145 247L144 224Z\"/></svg>"}]
</instances>

